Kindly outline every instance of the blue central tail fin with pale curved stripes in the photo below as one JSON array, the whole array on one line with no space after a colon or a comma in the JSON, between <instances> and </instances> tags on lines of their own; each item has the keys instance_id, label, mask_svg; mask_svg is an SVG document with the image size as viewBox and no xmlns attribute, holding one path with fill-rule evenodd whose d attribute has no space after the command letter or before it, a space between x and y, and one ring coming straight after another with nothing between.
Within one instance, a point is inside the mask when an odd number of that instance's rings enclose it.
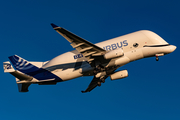
<instances>
[{"instance_id":1,"label":"blue central tail fin with pale curved stripes","mask_svg":"<svg viewBox=\"0 0 180 120\"><path fill-rule=\"evenodd\" d=\"M30 76L40 69L17 55L10 56L9 60L17 70Z\"/></svg>"}]
</instances>

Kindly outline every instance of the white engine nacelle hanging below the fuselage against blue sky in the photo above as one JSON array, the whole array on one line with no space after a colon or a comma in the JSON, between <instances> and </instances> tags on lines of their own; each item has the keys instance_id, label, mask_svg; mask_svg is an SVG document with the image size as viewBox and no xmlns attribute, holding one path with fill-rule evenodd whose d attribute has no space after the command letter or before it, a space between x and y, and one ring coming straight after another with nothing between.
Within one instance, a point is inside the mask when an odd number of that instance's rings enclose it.
<instances>
[{"instance_id":1,"label":"white engine nacelle hanging below the fuselage against blue sky","mask_svg":"<svg viewBox=\"0 0 180 120\"><path fill-rule=\"evenodd\" d=\"M114 74L110 75L111 80L122 79L125 77L128 77L127 70L118 71L118 72L115 72Z\"/></svg>"}]
</instances>

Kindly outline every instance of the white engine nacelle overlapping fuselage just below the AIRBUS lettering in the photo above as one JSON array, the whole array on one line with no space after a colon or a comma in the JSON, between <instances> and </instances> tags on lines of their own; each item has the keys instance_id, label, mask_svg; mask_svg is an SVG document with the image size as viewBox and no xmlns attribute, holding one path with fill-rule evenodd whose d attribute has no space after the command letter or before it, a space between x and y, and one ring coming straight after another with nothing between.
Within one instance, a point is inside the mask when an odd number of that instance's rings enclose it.
<instances>
[{"instance_id":1,"label":"white engine nacelle overlapping fuselage just below the AIRBUS lettering","mask_svg":"<svg viewBox=\"0 0 180 120\"><path fill-rule=\"evenodd\" d=\"M124 55L124 52L122 49L116 49L116 50L112 50L109 51L108 53L106 53L104 55L105 59L112 59L112 58L116 58L116 57L121 57Z\"/></svg>"}]
</instances>

